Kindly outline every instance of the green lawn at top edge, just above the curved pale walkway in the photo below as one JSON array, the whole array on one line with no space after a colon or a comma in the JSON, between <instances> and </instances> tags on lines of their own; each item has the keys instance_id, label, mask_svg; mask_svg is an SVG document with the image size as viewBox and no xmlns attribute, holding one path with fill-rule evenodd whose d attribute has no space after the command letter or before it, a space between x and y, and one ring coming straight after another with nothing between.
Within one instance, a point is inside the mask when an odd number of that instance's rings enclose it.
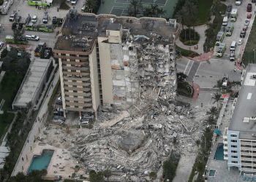
<instances>
[{"instance_id":1,"label":"green lawn at top edge, just above the curved pale walkway","mask_svg":"<svg viewBox=\"0 0 256 182\"><path fill-rule=\"evenodd\" d=\"M197 0L197 24L205 24L210 18L210 9L213 3L213 0Z\"/></svg>"}]
</instances>

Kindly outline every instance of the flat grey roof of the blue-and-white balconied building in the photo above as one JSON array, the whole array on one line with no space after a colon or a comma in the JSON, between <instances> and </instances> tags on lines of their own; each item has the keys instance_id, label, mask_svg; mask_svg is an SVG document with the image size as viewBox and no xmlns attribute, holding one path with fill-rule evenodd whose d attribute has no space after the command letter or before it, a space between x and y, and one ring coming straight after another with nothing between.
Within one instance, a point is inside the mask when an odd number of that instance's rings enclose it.
<instances>
[{"instance_id":1,"label":"flat grey roof of the blue-and-white balconied building","mask_svg":"<svg viewBox=\"0 0 256 182\"><path fill-rule=\"evenodd\" d=\"M229 130L240 131L240 137L256 140L256 65L249 64L239 92Z\"/></svg>"}]
</instances>

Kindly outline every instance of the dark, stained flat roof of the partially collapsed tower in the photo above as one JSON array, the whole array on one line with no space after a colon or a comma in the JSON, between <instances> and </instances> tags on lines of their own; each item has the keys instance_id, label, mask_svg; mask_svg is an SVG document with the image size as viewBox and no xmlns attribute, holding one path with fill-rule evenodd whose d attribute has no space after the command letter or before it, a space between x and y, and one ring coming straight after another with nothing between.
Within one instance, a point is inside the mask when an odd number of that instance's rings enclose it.
<instances>
[{"instance_id":1,"label":"dark, stained flat roof of the partially collapsed tower","mask_svg":"<svg viewBox=\"0 0 256 182\"><path fill-rule=\"evenodd\" d=\"M106 36L106 30L129 31L133 36L143 35L150 39L160 37L162 41L173 41L176 28L164 18L116 17L115 15L94 15L78 13L70 9L65 18L54 50L88 52L98 36ZM125 35L123 39L125 39Z\"/></svg>"}]
</instances>

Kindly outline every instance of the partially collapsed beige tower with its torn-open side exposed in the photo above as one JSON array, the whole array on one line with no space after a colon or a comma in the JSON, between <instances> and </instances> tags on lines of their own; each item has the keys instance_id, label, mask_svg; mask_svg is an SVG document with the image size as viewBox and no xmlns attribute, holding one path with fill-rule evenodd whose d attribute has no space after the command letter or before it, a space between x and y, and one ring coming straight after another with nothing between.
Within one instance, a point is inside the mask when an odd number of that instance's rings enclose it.
<instances>
[{"instance_id":1,"label":"partially collapsed beige tower with its torn-open side exposed","mask_svg":"<svg viewBox=\"0 0 256 182\"><path fill-rule=\"evenodd\" d=\"M127 108L143 90L174 97L175 26L175 21L162 18L78 14L71 9L53 50L63 108L95 113L105 104Z\"/></svg>"}]
</instances>

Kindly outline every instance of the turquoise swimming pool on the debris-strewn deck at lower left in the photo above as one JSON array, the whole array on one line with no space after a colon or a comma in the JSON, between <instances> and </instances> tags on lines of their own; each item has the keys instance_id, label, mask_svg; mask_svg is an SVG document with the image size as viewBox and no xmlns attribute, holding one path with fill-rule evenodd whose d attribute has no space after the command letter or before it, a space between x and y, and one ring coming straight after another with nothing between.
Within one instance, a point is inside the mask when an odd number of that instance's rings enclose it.
<instances>
[{"instance_id":1,"label":"turquoise swimming pool on the debris-strewn deck at lower left","mask_svg":"<svg viewBox=\"0 0 256 182\"><path fill-rule=\"evenodd\" d=\"M32 170L47 170L53 152L53 150L42 150L41 156L34 156L29 166L28 173L31 173Z\"/></svg>"}]
</instances>

